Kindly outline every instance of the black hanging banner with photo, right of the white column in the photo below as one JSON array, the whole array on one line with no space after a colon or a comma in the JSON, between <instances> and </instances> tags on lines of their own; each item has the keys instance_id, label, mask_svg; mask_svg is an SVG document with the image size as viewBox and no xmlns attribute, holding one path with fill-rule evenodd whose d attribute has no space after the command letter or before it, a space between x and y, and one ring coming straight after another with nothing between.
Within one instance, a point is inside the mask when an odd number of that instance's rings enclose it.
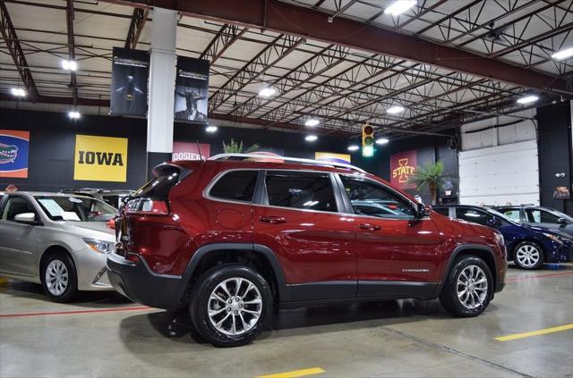
<instances>
[{"instance_id":1,"label":"black hanging banner with photo, right of the white column","mask_svg":"<svg viewBox=\"0 0 573 378\"><path fill-rule=\"evenodd\" d=\"M209 61L177 56L175 120L207 122Z\"/></svg>"}]
</instances>

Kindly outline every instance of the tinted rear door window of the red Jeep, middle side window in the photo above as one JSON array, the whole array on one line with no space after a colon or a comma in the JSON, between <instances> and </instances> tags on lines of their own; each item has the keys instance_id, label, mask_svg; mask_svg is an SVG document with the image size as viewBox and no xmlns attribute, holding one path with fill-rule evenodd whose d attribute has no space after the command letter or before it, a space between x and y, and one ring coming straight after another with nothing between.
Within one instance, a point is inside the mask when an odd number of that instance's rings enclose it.
<instances>
[{"instance_id":1,"label":"tinted rear door window of the red Jeep, middle side window","mask_svg":"<svg viewBox=\"0 0 573 378\"><path fill-rule=\"evenodd\" d=\"M338 211L328 173L267 172L265 182L270 206Z\"/></svg>"}]
</instances>

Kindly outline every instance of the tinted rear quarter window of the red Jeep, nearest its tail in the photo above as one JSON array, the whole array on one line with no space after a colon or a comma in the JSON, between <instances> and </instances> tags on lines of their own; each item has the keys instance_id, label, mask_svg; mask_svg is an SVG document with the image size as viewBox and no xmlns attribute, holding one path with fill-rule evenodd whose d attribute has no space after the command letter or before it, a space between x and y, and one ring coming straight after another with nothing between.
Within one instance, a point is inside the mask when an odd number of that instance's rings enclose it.
<instances>
[{"instance_id":1,"label":"tinted rear quarter window of the red Jeep, nearest its tail","mask_svg":"<svg viewBox=\"0 0 573 378\"><path fill-rule=\"evenodd\" d=\"M211 197L252 202L257 175L257 171L228 172L215 183L209 194Z\"/></svg>"}]
</instances>

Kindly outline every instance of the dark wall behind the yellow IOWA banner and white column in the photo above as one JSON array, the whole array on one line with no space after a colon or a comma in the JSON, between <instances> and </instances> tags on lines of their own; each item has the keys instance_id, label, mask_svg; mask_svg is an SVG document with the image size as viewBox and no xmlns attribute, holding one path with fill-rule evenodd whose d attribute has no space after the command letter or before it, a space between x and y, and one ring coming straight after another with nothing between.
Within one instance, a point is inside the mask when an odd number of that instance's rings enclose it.
<instances>
[{"instance_id":1,"label":"dark wall behind the yellow IOWA banner and white column","mask_svg":"<svg viewBox=\"0 0 573 378\"><path fill-rule=\"evenodd\" d=\"M0 178L0 189L9 184L21 190L56 191L80 187L137 189L145 182L145 119L82 115L81 120L75 122L66 113L0 109L0 128L30 130L29 177ZM127 138L127 181L74 181L76 134ZM342 138L324 136L308 143L304 141L304 134L294 132L220 127L216 133L210 134L200 125L175 123L175 141L208 143L211 155L222 153L222 141L231 138L242 140L245 147L258 143L261 147L282 149L285 155L295 157L313 159L316 151L347 153L347 140Z\"/></svg>"}]
</instances>

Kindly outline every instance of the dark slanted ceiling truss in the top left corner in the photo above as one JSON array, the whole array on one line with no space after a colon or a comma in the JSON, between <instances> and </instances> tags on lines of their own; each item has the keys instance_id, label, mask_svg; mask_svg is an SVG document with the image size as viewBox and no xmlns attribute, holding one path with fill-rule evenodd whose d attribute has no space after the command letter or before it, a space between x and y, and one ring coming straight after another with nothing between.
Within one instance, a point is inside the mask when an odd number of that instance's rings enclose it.
<instances>
[{"instance_id":1,"label":"dark slanted ceiling truss in the top left corner","mask_svg":"<svg viewBox=\"0 0 573 378\"><path fill-rule=\"evenodd\" d=\"M21 49L20 41L16 35L14 25L4 1L0 1L0 33L2 33L4 43L8 47L10 55L12 55L14 65L20 74L21 82L28 91L30 99L36 101L38 98L38 88L36 88L36 83L34 82L34 78L32 78L28 62L26 61L26 55L24 55Z\"/></svg>"}]
</instances>

